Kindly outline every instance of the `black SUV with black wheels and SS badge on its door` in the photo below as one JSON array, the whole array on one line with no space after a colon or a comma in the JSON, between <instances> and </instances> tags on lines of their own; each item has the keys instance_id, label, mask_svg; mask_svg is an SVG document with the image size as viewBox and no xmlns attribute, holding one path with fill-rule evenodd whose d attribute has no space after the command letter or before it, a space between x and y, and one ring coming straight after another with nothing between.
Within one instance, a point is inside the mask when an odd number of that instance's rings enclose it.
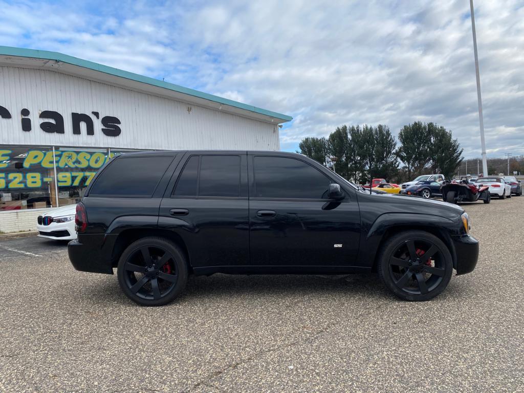
<instances>
[{"instance_id":1,"label":"black SUV with black wheels and SS badge on its door","mask_svg":"<svg viewBox=\"0 0 524 393\"><path fill-rule=\"evenodd\" d=\"M172 301L189 274L378 271L428 300L475 268L458 206L370 193L319 163L277 151L161 151L112 159L77 205L69 258L113 274L143 305Z\"/></svg>"}]
</instances>

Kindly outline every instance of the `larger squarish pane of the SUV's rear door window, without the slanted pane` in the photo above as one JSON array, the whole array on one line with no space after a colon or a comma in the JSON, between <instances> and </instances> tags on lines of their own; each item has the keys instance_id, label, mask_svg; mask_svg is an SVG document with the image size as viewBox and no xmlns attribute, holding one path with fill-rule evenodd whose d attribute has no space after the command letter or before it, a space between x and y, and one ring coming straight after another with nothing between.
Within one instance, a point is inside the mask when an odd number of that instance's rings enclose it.
<instances>
[{"instance_id":1,"label":"larger squarish pane of the SUV's rear door window, without the slanted pane","mask_svg":"<svg viewBox=\"0 0 524 393\"><path fill-rule=\"evenodd\" d=\"M240 157L202 156L199 196L238 196Z\"/></svg>"}]
</instances>

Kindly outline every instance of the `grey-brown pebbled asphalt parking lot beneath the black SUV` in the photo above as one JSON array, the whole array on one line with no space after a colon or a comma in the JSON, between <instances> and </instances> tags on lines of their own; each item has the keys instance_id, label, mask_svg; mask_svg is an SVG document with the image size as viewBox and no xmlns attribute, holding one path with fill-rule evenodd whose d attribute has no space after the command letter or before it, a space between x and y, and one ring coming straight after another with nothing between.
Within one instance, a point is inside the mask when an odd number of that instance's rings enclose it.
<instances>
[{"instance_id":1,"label":"grey-brown pebbled asphalt parking lot beneath the black SUV","mask_svg":"<svg viewBox=\"0 0 524 393\"><path fill-rule=\"evenodd\" d=\"M423 303L376 276L214 275L144 308L64 244L0 238L0 391L524 391L524 198L463 206L477 268Z\"/></svg>"}]
</instances>

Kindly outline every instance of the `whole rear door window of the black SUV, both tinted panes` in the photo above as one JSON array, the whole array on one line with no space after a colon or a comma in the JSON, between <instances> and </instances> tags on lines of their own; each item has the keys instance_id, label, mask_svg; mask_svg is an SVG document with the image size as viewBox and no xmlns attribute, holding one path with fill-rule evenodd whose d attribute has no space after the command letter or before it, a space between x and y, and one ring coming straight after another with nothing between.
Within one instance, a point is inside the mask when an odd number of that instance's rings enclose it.
<instances>
[{"instance_id":1,"label":"whole rear door window of the black SUV, both tinted panes","mask_svg":"<svg viewBox=\"0 0 524 393\"><path fill-rule=\"evenodd\" d=\"M175 196L239 196L240 157L191 157L174 188Z\"/></svg>"}]
</instances>

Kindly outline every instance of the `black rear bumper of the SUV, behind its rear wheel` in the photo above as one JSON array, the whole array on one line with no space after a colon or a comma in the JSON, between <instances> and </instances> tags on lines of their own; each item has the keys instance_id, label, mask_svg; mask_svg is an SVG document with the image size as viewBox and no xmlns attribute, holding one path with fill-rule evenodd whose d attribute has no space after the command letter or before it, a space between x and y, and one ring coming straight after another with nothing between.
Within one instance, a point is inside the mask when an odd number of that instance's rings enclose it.
<instances>
[{"instance_id":1,"label":"black rear bumper of the SUV, behind its rear wheel","mask_svg":"<svg viewBox=\"0 0 524 393\"><path fill-rule=\"evenodd\" d=\"M71 264L79 271L113 274L111 256L115 238L115 235L81 235L69 242Z\"/></svg>"}]
</instances>

